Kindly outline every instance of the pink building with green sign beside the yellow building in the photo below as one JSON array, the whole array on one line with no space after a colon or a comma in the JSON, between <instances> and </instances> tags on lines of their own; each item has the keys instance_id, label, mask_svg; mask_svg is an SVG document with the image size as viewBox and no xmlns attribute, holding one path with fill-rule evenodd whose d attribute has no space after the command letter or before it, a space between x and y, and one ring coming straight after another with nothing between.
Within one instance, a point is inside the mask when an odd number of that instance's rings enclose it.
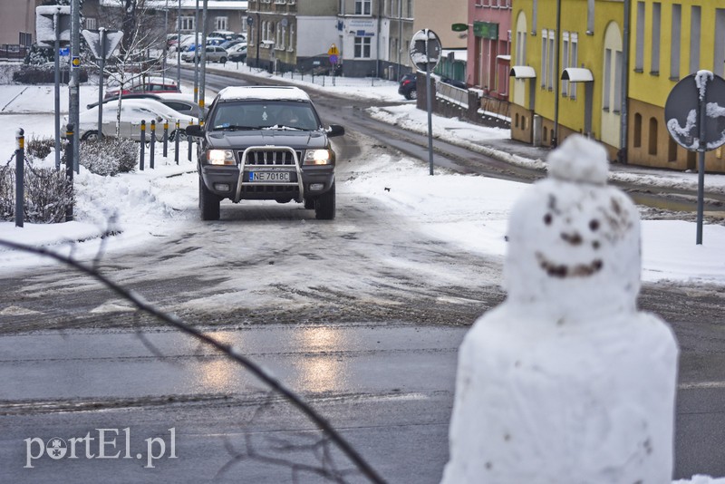
<instances>
[{"instance_id":1,"label":"pink building with green sign beside the yellow building","mask_svg":"<svg viewBox=\"0 0 725 484\"><path fill-rule=\"evenodd\" d=\"M469 0L466 81L489 96L508 100L512 0Z\"/></svg>"}]
</instances>

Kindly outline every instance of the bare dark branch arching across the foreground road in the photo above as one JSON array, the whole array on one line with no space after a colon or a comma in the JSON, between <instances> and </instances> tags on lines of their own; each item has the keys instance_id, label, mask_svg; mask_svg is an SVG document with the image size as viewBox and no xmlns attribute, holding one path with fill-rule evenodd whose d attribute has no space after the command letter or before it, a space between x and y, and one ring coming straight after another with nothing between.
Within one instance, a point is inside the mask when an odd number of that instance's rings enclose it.
<instances>
[{"instance_id":1,"label":"bare dark branch arching across the foreground road","mask_svg":"<svg viewBox=\"0 0 725 484\"><path fill-rule=\"evenodd\" d=\"M242 354L238 351L237 348L230 344L223 344L219 341L217 341L212 336L209 336L208 334L204 334L195 327L193 327L190 324L185 323L182 321L179 316L177 315L169 315L168 313L162 311L159 307L152 305L150 302L148 302L146 299L143 298L140 294L136 293L135 291L132 291L130 289L127 289L123 286L120 286L116 284L115 282L111 281L106 276L103 276L98 270L93 268L93 266L85 266L81 262L74 260L72 257L66 257L61 254L57 254L53 252L52 250L48 250L43 247L33 247L28 246L25 244L18 244L15 242L2 240L0 239L0 246L8 247L14 250L20 250L24 251L30 254L35 254L38 256L43 257L50 257L58 262L61 262L67 266L71 266L74 269L77 269L78 271L82 272L83 274L86 274L87 276L91 276L97 281L101 282L102 285L108 287L111 289L112 292L116 293L117 295L121 295L121 297L127 299L128 301L131 301L133 305L138 307L141 311L144 311L150 315L153 315L160 319L161 321L170 324L171 326L179 329L181 332L189 334L193 336L194 338L198 339L199 342L202 342L204 344L208 344L212 348L218 350L220 353L224 353L227 355L228 358L236 361L237 363L241 364L245 369L247 369L248 372L254 374L256 378L261 380L262 382L266 383L266 385L270 388L271 391L277 392L281 394L285 400L292 403L293 406L298 411L301 411L305 417L309 421L312 421L314 425L320 430L324 432L324 435L327 436L327 439L329 439L339 450L343 452L343 454L353 462L354 466L360 470L362 475L364 475L367 479L369 479L371 482L376 484L382 484L385 481L378 475L378 473L375 471L375 469L372 469L370 464L362 459L362 456L353 449L353 447L350 445L350 443L347 442L347 440L343 439L343 436L340 435L332 426L332 424L327 421L322 415L314 411L314 409L309 406L306 402L302 400L301 397L299 397L295 392L287 388L282 382L279 382L274 376L272 376L270 373L267 373L266 370L264 370L261 366L258 364L252 362L247 356ZM272 464L280 464L280 465L289 465L290 462L287 460L281 460L274 457L269 456L262 456L256 453L253 446L250 446L250 442L248 440L249 435L247 434L247 452L237 454L238 457L235 457L235 460L230 461L227 463L222 470L226 469L230 464L233 464L237 460L244 459L244 456L247 455L249 457L254 456L256 459L264 460L268 463ZM227 449L230 449L227 447ZM232 449L233 450L233 449ZM251 452L250 452L251 450ZM234 452L232 453L233 456L235 456ZM326 453L326 452L325 452ZM332 476L332 473L328 473L328 470L330 469L319 469L314 468L313 466L307 466L304 464L294 464L293 465L293 474L295 475L296 472L300 470L314 472L316 474L319 474L324 477L332 477L333 479L341 479L342 476L340 476L340 473L337 473L337 476ZM220 470L220 472L222 471Z\"/></svg>"}]
</instances>

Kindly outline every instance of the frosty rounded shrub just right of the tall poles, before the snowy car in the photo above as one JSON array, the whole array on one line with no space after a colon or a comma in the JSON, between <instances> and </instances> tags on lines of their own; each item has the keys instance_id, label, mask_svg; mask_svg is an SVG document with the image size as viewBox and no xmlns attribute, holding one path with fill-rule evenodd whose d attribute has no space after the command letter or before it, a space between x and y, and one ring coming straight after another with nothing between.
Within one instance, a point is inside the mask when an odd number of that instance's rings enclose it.
<instances>
[{"instance_id":1,"label":"frosty rounded shrub just right of the tall poles, before the snowy car","mask_svg":"<svg viewBox=\"0 0 725 484\"><path fill-rule=\"evenodd\" d=\"M81 142L80 163L92 173L114 176L136 168L138 144L133 140L102 138Z\"/></svg>"}]
</instances>

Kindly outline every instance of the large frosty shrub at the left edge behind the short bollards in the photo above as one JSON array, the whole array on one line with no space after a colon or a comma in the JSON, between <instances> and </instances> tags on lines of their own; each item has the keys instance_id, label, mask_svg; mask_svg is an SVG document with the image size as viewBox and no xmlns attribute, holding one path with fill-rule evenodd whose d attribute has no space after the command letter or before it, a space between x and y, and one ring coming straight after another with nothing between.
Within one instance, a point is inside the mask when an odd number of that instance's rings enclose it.
<instances>
[{"instance_id":1,"label":"large frosty shrub at the left edge behind the short bollards","mask_svg":"<svg viewBox=\"0 0 725 484\"><path fill-rule=\"evenodd\" d=\"M65 220L66 208L73 204L73 185L63 170L34 168L30 162L24 169L24 220L53 224ZM15 169L9 164L0 167L0 219L15 218Z\"/></svg>"}]
</instances>

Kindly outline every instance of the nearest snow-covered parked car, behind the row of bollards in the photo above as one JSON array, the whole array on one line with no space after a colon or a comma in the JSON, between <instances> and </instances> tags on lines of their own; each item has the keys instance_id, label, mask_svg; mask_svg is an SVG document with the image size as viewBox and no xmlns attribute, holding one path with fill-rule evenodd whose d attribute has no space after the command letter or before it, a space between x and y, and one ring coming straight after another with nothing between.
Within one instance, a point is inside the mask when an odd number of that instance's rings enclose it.
<instances>
[{"instance_id":1,"label":"nearest snow-covered parked car, behind the row of bollards","mask_svg":"<svg viewBox=\"0 0 725 484\"><path fill-rule=\"evenodd\" d=\"M102 131L104 136L116 136L118 100L103 103ZM79 124L76 134L81 140L91 140L98 136L98 106L79 114ZM176 121L179 121L179 131L187 128L189 124L198 123L198 118L181 114L165 104L153 99L126 99L121 101L121 125L119 136L140 141L140 124L146 121L147 139L150 135L150 123L156 121L157 136L161 137L163 123L169 122L169 138L176 136ZM67 123L67 116L63 123ZM179 133L181 134L181 133Z\"/></svg>"}]
</instances>

